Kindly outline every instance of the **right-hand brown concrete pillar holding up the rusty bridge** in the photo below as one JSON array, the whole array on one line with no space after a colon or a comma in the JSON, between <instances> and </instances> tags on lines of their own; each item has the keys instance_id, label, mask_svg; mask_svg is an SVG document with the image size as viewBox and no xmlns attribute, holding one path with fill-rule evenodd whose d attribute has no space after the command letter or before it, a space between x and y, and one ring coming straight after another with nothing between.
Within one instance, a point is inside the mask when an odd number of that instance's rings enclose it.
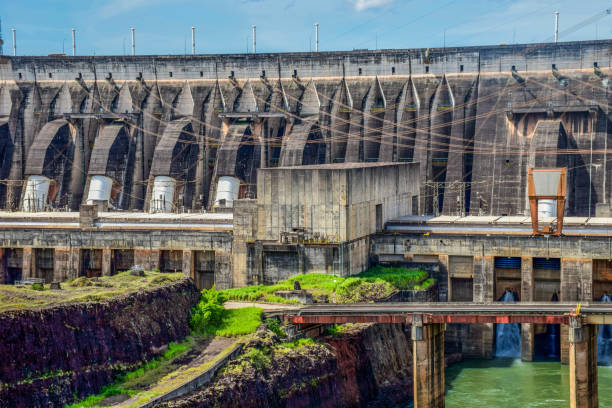
<instances>
[{"instance_id":1,"label":"right-hand brown concrete pillar holding up the rusty bridge","mask_svg":"<svg viewBox=\"0 0 612 408\"><path fill-rule=\"evenodd\" d=\"M580 316L570 316L569 325L570 408L596 408L597 326L583 325Z\"/></svg>"}]
</instances>

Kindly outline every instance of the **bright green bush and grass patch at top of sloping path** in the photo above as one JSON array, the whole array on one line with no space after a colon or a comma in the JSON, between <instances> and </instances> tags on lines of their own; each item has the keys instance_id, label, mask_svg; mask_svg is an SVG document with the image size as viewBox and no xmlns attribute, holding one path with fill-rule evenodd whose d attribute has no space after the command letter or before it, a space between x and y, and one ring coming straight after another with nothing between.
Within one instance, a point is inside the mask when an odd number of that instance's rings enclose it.
<instances>
[{"instance_id":1,"label":"bright green bush and grass patch at top of sloping path","mask_svg":"<svg viewBox=\"0 0 612 408\"><path fill-rule=\"evenodd\" d=\"M225 309L226 300L224 291L218 291L214 286L204 289L189 321L192 330L206 336L236 337L253 333L259 327L261 308Z\"/></svg>"}]
</instances>

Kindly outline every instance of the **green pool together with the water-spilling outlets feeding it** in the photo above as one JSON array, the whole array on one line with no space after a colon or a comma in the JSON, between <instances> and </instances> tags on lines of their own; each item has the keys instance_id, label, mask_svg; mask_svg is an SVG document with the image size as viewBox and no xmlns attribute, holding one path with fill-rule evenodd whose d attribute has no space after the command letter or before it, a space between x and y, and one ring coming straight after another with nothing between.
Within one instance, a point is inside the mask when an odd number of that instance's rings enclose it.
<instances>
[{"instance_id":1,"label":"green pool together with the water-spilling outlets feeding it","mask_svg":"<svg viewBox=\"0 0 612 408\"><path fill-rule=\"evenodd\" d=\"M506 291L501 302L517 301ZM556 301L556 296L553 296ZM601 302L611 302L604 294ZM520 325L495 327L495 358L465 360L446 368L447 408L568 408L569 367L559 362L559 327L536 334L534 362L523 362ZM612 325L600 325L597 336L599 406L612 408ZM408 408L412 404L408 405Z\"/></svg>"}]
</instances>

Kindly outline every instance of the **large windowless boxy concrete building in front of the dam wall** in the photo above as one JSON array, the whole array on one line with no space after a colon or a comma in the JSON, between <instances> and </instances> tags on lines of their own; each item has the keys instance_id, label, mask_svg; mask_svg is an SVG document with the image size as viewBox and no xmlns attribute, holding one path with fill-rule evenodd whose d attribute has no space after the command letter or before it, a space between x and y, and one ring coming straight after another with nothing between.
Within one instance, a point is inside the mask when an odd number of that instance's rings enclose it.
<instances>
[{"instance_id":1,"label":"large windowless boxy concrete building in front of the dam wall","mask_svg":"<svg viewBox=\"0 0 612 408\"><path fill-rule=\"evenodd\" d=\"M346 276L367 269L372 234L388 220L411 214L418 194L416 163L260 169L251 212L257 227L244 238L251 241L244 247L250 280L272 283L295 273ZM235 237L237 229L235 224ZM234 256L243 256L237 240Z\"/></svg>"}]
</instances>

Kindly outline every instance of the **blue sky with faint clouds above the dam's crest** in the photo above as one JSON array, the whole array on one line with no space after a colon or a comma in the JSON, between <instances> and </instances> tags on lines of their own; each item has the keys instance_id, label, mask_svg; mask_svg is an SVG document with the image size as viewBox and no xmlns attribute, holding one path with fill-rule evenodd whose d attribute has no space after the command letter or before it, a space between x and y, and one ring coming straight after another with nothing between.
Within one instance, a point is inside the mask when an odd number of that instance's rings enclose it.
<instances>
[{"instance_id":1,"label":"blue sky with faint clouds above the dam's crest","mask_svg":"<svg viewBox=\"0 0 612 408\"><path fill-rule=\"evenodd\" d=\"M71 52L78 55L130 52L136 28L137 54L191 52L191 26L198 53L243 53L257 25L258 52L412 48L529 43L551 40L553 12L560 12L560 41L612 37L612 16L570 33L564 30L599 11L610 0L21 0L0 1L4 53ZM446 32L446 34L445 34Z\"/></svg>"}]
</instances>

